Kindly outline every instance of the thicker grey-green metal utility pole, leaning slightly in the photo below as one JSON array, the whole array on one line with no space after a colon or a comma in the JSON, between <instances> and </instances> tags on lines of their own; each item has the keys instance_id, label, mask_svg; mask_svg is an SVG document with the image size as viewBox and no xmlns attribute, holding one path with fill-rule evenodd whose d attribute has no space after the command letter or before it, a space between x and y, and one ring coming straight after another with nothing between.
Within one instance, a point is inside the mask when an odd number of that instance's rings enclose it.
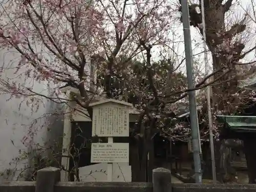
<instances>
[{"instance_id":1,"label":"thicker grey-green metal utility pole, leaning slightly","mask_svg":"<svg viewBox=\"0 0 256 192\"><path fill-rule=\"evenodd\" d=\"M194 89L195 86L194 86L194 80L193 80L192 48L191 48L187 0L181 0L181 7L182 7L182 23L183 23L185 57L186 57L187 87L188 89ZM195 180L196 180L196 183L202 183L201 158L200 158L200 146L199 146L200 141L198 137L199 129L198 129L195 91L188 92L188 99L189 99L191 137L192 137L192 144L193 144L193 157L194 157L194 167L195 167Z\"/></svg>"}]
</instances>

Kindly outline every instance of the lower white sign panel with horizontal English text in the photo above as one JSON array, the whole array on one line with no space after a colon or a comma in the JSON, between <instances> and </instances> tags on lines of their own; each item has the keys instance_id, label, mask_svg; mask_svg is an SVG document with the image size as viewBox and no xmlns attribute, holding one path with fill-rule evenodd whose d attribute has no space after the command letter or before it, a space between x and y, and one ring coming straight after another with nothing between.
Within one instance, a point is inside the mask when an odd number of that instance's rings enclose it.
<instances>
[{"instance_id":1,"label":"lower white sign panel with horizontal English text","mask_svg":"<svg viewBox=\"0 0 256 192\"><path fill-rule=\"evenodd\" d=\"M129 143L92 143L92 163L128 163Z\"/></svg>"}]
</instances>

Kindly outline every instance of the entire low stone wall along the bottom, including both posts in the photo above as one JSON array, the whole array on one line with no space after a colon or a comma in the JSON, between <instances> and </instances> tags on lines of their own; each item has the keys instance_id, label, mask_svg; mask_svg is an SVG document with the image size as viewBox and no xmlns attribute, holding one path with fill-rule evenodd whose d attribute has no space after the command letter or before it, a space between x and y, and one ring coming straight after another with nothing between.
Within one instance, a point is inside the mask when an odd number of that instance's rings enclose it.
<instances>
[{"instance_id":1,"label":"entire low stone wall along the bottom, including both posts","mask_svg":"<svg viewBox=\"0 0 256 192\"><path fill-rule=\"evenodd\" d=\"M245 192L256 191L253 184L174 184L170 170L153 169L153 183L139 182L59 182L60 169L38 170L36 182L5 182L1 192Z\"/></svg>"}]
</instances>

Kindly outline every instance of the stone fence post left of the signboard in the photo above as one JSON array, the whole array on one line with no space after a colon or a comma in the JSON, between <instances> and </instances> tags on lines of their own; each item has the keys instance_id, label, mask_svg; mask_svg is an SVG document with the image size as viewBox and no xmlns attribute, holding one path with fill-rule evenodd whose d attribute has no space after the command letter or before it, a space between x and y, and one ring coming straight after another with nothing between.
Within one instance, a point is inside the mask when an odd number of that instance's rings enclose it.
<instances>
[{"instance_id":1,"label":"stone fence post left of the signboard","mask_svg":"<svg viewBox=\"0 0 256 192\"><path fill-rule=\"evenodd\" d=\"M35 192L53 192L55 183L60 181L60 169L46 167L38 170Z\"/></svg>"}]
</instances>

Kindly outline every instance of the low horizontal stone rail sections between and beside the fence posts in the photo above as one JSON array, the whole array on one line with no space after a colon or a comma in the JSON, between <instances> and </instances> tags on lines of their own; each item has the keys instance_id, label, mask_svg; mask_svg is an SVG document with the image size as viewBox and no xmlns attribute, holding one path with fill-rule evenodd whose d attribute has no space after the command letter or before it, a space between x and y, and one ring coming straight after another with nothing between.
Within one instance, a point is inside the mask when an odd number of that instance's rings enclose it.
<instances>
[{"instance_id":1,"label":"low horizontal stone rail sections between and beside the fence posts","mask_svg":"<svg viewBox=\"0 0 256 192\"><path fill-rule=\"evenodd\" d=\"M6 182L0 184L1 192L34 192L35 182ZM59 182L54 192L152 192L151 183L115 183L115 182ZM173 192L255 192L252 184L173 184Z\"/></svg>"}]
</instances>

